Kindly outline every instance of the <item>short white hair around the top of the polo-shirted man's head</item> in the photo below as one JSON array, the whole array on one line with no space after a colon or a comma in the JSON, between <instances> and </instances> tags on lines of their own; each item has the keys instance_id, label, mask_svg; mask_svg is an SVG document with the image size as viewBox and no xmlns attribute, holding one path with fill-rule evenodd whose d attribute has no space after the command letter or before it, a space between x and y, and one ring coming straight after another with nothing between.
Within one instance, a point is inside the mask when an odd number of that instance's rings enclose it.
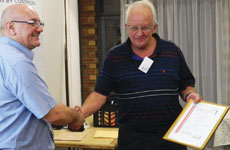
<instances>
[{"instance_id":1,"label":"short white hair around the top of the polo-shirted man's head","mask_svg":"<svg viewBox=\"0 0 230 150\"><path fill-rule=\"evenodd\" d=\"M158 21L157 21L157 17L156 17L156 10L155 10L155 7L153 6L153 3L149 0L141 0L141 1L137 1L137 2L134 2L132 4L130 4L128 6L128 9L126 10L126 16L125 16L125 23L127 24L128 23L128 18L129 18L129 15L130 15L130 11L132 8L135 8L137 6L145 6L145 7L148 7L151 12L152 12L152 16L153 16L153 25L154 24L158 24Z\"/></svg>"}]
</instances>

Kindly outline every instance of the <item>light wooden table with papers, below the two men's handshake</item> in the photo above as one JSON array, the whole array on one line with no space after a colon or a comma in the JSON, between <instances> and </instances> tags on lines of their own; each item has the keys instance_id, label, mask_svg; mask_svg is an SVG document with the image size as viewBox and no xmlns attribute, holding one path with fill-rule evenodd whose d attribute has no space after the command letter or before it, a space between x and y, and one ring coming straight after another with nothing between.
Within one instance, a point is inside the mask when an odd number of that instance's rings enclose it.
<instances>
[{"instance_id":1,"label":"light wooden table with papers, below the two men's handshake","mask_svg":"<svg viewBox=\"0 0 230 150\"><path fill-rule=\"evenodd\" d=\"M87 119L90 128L85 129L83 132L87 132L85 138L81 141L60 141L55 140L56 147L67 147L67 148L91 148L91 149L108 149L108 150L115 150L117 147L117 138L95 138L96 131L116 131L118 132L118 128L102 128L102 127L93 127L92 125L92 116ZM62 132L71 132L67 129L62 130L53 130L54 137Z\"/></svg>"}]
</instances>

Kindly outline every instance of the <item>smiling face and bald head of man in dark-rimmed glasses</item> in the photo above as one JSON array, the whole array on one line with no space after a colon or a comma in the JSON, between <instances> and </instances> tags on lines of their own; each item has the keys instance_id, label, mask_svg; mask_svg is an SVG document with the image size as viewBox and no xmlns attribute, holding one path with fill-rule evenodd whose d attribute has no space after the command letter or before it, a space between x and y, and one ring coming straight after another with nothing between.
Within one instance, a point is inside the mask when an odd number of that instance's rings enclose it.
<instances>
[{"instance_id":1,"label":"smiling face and bald head of man in dark-rimmed glasses","mask_svg":"<svg viewBox=\"0 0 230 150\"><path fill-rule=\"evenodd\" d=\"M27 23L19 23L12 21L31 21L39 22L38 14L26 5L13 5L6 11L6 35L9 38L21 43L28 49L32 50L40 46L39 35L43 32L43 27L40 25L31 25Z\"/></svg>"}]
</instances>

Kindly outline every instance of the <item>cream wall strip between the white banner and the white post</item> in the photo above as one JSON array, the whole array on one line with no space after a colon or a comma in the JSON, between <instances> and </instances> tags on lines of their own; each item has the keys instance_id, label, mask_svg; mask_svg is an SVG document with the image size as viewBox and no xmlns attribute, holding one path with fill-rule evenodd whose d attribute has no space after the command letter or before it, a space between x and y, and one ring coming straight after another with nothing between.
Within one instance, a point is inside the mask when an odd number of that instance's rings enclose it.
<instances>
[{"instance_id":1,"label":"cream wall strip between the white banner and the white post","mask_svg":"<svg viewBox=\"0 0 230 150\"><path fill-rule=\"evenodd\" d=\"M43 0L41 19L45 22L42 37L44 80L51 95L65 104L64 0Z\"/></svg>"}]
</instances>

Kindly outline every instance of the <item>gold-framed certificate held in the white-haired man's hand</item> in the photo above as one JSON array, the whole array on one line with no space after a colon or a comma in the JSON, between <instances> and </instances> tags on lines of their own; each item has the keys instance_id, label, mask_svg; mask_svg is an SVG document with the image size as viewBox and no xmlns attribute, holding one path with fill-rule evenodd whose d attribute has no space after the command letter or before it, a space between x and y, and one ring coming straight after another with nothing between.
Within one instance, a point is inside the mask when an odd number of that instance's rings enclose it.
<instances>
[{"instance_id":1,"label":"gold-framed certificate held in the white-haired man's hand","mask_svg":"<svg viewBox=\"0 0 230 150\"><path fill-rule=\"evenodd\" d=\"M204 149L229 106L190 100L163 139L196 149Z\"/></svg>"}]
</instances>

